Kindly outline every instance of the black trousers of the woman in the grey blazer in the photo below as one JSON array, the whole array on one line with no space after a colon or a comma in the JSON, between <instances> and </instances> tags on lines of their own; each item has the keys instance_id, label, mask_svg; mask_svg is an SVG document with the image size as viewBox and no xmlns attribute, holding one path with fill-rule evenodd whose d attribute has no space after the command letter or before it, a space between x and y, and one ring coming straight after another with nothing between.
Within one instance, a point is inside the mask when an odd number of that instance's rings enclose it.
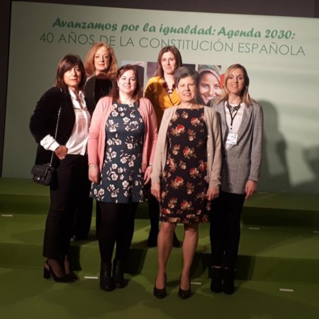
<instances>
[{"instance_id":1,"label":"black trousers of the woman in the grey blazer","mask_svg":"<svg viewBox=\"0 0 319 319\"><path fill-rule=\"evenodd\" d=\"M245 194L221 191L212 201L210 239L212 263L235 269L240 239L240 215Z\"/></svg>"}]
</instances>

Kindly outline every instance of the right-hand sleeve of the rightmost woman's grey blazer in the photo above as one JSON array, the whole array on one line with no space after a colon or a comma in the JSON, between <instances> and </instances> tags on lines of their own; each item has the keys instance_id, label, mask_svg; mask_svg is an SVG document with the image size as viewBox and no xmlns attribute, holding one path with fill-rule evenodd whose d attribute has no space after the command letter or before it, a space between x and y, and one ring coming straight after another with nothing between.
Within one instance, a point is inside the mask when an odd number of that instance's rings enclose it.
<instances>
[{"instance_id":1,"label":"right-hand sleeve of the rightmost woman's grey blazer","mask_svg":"<svg viewBox=\"0 0 319 319\"><path fill-rule=\"evenodd\" d=\"M254 104L255 120L252 136L252 151L250 152L250 171L248 179L258 181L261 170L262 139L263 139L263 110L259 104Z\"/></svg>"}]
</instances>

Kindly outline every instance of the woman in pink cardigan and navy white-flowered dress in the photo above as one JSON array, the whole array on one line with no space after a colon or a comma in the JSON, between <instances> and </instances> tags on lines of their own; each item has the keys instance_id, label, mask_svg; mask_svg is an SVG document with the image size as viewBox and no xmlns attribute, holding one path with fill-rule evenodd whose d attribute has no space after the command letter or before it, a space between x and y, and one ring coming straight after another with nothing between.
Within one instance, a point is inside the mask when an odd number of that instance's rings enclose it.
<instances>
[{"instance_id":1,"label":"woman in pink cardigan and navy white-flowered dress","mask_svg":"<svg viewBox=\"0 0 319 319\"><path fill-rule=\"evenodd\" d=\"M152 172L156 116L151 102L140 94L135 67L122 66L110 96L99 100L89 128L90 196L101 207L100 288L106 291L125 287L123 264L133 237L135 212L144 201L144 185Z\"/></svg>"}]
</instances>

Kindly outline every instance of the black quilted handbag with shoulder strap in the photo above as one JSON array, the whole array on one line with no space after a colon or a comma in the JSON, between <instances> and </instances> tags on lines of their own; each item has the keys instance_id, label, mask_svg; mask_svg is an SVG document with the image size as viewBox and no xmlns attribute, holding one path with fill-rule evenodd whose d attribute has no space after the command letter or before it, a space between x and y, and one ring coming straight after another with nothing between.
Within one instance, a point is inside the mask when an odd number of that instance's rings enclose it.
<instances>
[{"instance_id":1,"label":"black quilted handbag with shoulder strap","mask_svg":"<svg viewBox=\"0 0 319 319\"><path fill-rule=\"evenodd\" d=\"M57 125L55 127L54 139L56 139L57 132L58 132L60 113L61 113L61 105L58 112L58 120L57 120ZM50 163L33 165L31 169L31 174L33 175L32 180L35 183L43 185L43 186L49 186L51 184L53 179L53 173L55 171L54 167L52 166L53 154L54 152L52 152Z\"/></svg>"}]
</instances>

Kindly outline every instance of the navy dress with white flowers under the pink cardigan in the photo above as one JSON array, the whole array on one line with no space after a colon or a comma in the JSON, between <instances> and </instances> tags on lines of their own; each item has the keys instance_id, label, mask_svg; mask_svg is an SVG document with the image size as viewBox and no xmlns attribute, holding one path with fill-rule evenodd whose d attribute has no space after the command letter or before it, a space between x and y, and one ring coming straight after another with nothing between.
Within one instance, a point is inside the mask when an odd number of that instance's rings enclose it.
<instances>
[{"instance_id":1,"label":"navy dress with white flowers under the pink cardigan","mask_svg":"<svg viewBox=\"0 0 319 319\"><path fill-rule=\"evenodd\" d=\"M105 126L106 143L100 183L90 197L103 202L144 201L142 153L144 122L138 105L113 104Z\"/></svg>"}]
</instances>

